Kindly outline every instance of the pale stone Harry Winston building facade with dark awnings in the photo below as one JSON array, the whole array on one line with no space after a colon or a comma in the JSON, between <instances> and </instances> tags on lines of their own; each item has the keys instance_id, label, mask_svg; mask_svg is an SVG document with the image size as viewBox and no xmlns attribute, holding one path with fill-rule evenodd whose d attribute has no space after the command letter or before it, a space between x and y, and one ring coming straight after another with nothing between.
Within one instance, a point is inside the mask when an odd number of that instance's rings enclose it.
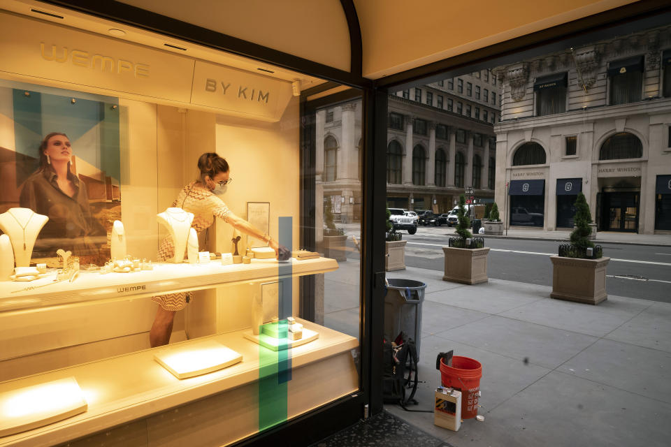
<instances>
[{"instance_id":1,"label":"pale stone Harry Winston building facade with dark awnings","mask_svg":"<svg viewBox=\"0 0 671 447\"><path fill-rule=\"evenodd\" d=\"M493 70L502 88L496 202L508 226L671 230L671 28Z\"/></svg>"}]
</instances>

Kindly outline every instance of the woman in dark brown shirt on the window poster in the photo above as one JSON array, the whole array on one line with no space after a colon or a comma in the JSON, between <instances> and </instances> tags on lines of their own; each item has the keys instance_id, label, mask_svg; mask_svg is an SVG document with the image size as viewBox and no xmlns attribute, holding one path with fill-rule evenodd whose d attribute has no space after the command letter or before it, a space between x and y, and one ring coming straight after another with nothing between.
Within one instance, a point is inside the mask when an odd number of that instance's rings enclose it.
<instances>
[{"instance_id":1,"label":"woman in dark brown shirt on the window poster","mask_svg":"<svg viewBox=\"0 0 671 447\"><path fill-rule=\"evenodd\" d=\"M26 179L20 204L49 221L33 251L37 257L54 257L57 249L75 256L97 256L107 242L105 228L92 217L86 186L71 172L72 147L65 133L45 136L39 147L40 166Z\"/></svg>"}]
</instances>

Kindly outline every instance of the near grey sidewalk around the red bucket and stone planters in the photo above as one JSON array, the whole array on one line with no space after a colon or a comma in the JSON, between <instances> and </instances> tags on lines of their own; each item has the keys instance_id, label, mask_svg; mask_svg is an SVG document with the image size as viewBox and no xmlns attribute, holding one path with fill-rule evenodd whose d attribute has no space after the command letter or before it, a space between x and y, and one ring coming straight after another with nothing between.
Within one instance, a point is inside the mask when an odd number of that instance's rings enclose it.
<instances>
[{"instance_id":1,"label":"near grey sidewalk around the red bucket and stone planters","mask_svg":"<svg viewBox=\"0 0 671 447\"><path fill-rule=\"evenodd\" d=\"M325 324L354 336L358 300L344 297L358 292L358 272L350 258L325 277ZM452 432L433 425L433 413L385 405L395 416L455 447L668 446L671 304L609 295L583 305L552 300L547 286L500 279L468 286L420 268L387 278L427 284L422 383L410 409L432 409L435 358L454 349L482 363L485 420L464 420Z\"/></svg>"}]
</instances>

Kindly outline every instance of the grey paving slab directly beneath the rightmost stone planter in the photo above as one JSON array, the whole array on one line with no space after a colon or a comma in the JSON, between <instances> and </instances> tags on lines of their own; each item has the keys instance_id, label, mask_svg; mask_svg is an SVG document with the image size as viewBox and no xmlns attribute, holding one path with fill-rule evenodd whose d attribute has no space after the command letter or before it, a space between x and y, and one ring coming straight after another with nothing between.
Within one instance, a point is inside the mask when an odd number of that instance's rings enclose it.
<instances>
[{"instance_id":1,"label":"grey paving slab directly beneath the rightmost stone planter","mask_svg":"<svg viewBox=\"0 0 671 447\"><path fill-rule=\"evenodd\" d=\"M603 337L640 314L651 304L645 300L609 297L600 305L591 306L547 298L501 312L498 315L551 328Z\"/></svg>"}]
</instances>

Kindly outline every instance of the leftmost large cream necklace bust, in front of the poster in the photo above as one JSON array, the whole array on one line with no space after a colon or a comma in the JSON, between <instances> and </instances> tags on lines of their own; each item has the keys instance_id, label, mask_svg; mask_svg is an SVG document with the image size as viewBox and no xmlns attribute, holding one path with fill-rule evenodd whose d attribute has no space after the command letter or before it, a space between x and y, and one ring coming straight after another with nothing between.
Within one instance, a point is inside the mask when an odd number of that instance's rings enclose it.
<instances>
[{"instance_id":1,"label":"leftmost large cream necklace bust, in front of the poster","mask_svg":"<svg viewBox=\"0 0 671 447\"><path fill-rule=\"evenodd\" d=\"M0 214L0 230L9 236L17 267L28 267L33 247L42 227L49 220L30 208L10 208Z\"/></svg>"}]
</instances>

